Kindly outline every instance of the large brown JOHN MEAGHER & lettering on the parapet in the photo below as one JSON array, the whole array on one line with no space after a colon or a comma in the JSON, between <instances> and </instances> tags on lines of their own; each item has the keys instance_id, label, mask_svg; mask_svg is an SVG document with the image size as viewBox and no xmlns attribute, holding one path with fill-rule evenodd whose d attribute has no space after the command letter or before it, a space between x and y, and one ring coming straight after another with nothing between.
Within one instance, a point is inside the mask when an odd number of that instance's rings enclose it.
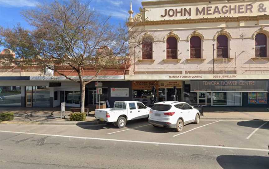
<instances>
[{"instance_id":1,"label":"large brown JOHN MEAGHER & lettering on the parapet","mask_svg":"<svg viewBox=\"0 0 269 169\"><path fill-rule=\"evenodd\" d=\"M258 12L267 12L267 7L263 3L257 4ZM224 14L242 14L242 13L253 13L255 11L252 4L241 4L241 5L223 5L223 6L207 6L207 7L196 7L193 8L175 8L175 9L165 9L164 14L161 17L183 17L183 16L192 16L193 13L195 16L200 15L224 15Z\"/></svg>"}]
</instances>

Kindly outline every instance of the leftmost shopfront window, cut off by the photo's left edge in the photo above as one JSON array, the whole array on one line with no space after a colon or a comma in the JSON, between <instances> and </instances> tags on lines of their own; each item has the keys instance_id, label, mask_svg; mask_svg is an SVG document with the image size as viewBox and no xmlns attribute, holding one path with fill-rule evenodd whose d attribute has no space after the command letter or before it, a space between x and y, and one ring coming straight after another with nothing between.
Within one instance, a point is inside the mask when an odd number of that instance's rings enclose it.
<instances>
[{"instance_id":1,"label":"leftmost shopfront window, cut off by the photo's left edge","mask_svg":"<svg viewBox=\"0 0 269 169\"><path fill-rule=\"evenodd\" d=\"M20 86L0 86L0 106L21 106Z\"/></svg>"}]
</instances>

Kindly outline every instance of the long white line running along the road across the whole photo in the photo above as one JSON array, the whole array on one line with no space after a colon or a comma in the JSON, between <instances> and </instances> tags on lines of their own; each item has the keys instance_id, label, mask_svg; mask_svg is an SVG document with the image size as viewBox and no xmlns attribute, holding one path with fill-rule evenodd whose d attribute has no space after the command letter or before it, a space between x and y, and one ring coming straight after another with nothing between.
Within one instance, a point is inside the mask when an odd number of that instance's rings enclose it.
<instances>
[{"instance_id":1,"label":"long white line running along the road across the whole photo","mask_svg":"<svg viewBox=\"0 0 269 169\"><path fill-rule=\"evenodd\" d=\"M133 142L133 143L144 143L144 144L159 144L159 145L188 146L188 147L207 147L207 148L221 148L221 149L234 149L234 150L249 150L249 151L268 152L267 149L259 149L259 148L220 147L220 146L208 146L208 145L196 145L196 144L179 144L179 143L166 143L166 142L146 142L146 141L134 141L134 140L117 140L117 139L108 139L108 138L77 137L77 136L65 136L65 135L54 135L54 134L11 132L11 131L2 131L2 130L0 130L0 132L2 132L2 133L31 134L31 135L39 135L39 136L64 137L64 138L79 138L79 139L88 139L88 140L103 140L103 141L113 141L113 142Z\"/></svg>"}]
</instances>

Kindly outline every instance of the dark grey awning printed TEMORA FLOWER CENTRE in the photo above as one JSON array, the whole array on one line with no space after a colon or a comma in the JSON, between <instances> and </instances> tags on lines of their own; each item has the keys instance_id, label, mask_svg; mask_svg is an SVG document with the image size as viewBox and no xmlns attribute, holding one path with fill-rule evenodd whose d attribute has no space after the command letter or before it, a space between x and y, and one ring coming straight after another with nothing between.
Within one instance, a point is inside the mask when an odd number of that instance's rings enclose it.
<instances>
[{"instance_id":1,"label":"dark grey awning printed TEMORA FLOWER CENTRE","mask_svg":"<svg viewBox=\"0 0 269 169\"><path fill-rule=\"evenodd\" d=\"M191 80L191 92L268 92L268 80Z\"/></svg>"}]
</instances>

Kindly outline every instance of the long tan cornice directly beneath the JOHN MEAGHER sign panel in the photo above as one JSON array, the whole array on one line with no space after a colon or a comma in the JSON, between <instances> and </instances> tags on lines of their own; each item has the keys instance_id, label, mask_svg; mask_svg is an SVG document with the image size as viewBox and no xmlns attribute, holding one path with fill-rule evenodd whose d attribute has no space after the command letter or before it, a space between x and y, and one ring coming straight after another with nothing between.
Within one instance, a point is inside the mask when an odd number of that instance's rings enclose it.
<instances>
[{"instance_id":1,"label":"long tan cornice directly beneath the JOHN MEAGHER sign panel","mask_svg":"<svg viewBox=\"0 0 269 169\"><path fill-rule=\"evenodd\" d=\"M240 22L240 21L258 21L269 20L269 15L258 16L242 16L242 17L217 17L217 18L199 18L199 19L178 19L178 20L162 20L162 21L142 21L128 22L128 26L148 26L148 25L171 25L186 23L205 23L205 22Z\"/></svg>"}]
</instances>

